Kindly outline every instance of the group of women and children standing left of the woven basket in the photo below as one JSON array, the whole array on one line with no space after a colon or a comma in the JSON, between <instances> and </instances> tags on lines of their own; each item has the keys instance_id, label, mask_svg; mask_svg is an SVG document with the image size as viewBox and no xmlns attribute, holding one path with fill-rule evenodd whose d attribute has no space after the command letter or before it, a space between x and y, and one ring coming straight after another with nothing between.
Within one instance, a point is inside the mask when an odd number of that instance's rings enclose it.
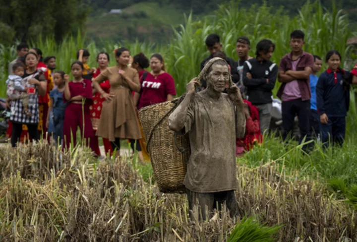
<instances>
[{"instance_id":1,"label":"group of women and children standing left of the woven basket","mask_svg":"<svg viewBox=\"0 0 357 242\"><path fill-rule=\"evenodd\" d=\"M79 128L85 145L100 157L98 137L106 154L119 155L120 140L130 142L140 161L149 160L137 110L172 100L176 95L173 77L166 72L164 59L154 54L150 60L126 48L115 50L117 65L109 67L110 55L97 55L98 67L89 67L88 50L77 52L71 64L73 80L56 70L56 57L42 60L39 49L17 46L18 57L9 64L7 101L10 123L7 131L12 147L29 136L40 135L68 149L76 144ZM150 66L151 71L145 70ZM29 135L28 135L29 134Z\"/></svg>"}]
</instances>

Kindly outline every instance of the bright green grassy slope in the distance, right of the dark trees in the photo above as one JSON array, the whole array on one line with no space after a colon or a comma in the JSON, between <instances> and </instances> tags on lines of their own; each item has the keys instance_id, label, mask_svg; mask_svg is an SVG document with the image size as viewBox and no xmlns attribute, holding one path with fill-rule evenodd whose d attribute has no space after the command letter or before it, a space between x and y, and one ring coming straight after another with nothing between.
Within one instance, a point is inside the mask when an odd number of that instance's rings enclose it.
<instances>
[{"instance_id":1,"label":"bright green grassy slope in the distance, right of the dark trees","mask_svg":"<svg viewBox=\"0 0 357 242\"><path fill-rule=\"evenodd\" d=\"M166 42L172 34L172 26L184 22L184 13L189 11L173 4L140 2L121 9L119 14L107 11L90 16L86 23L87 36L94 40Z\"/></svg>"}]
</instances>

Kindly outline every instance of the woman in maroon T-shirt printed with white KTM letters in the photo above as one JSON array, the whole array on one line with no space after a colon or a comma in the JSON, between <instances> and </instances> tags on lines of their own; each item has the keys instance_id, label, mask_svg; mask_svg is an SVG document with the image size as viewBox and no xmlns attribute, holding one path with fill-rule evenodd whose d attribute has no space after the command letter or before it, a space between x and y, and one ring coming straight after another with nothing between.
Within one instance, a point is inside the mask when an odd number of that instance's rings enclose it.
<instances>
[{"instance_id":1,"label":"woman in maroon T-shirt printed with white KTM letters","mask_svg":"<svg viewBox=\"0 0 357 242\"><path fill-rule=\"evenodd\" d=\"M134 104L137 109L157 103L171 101L176 95L174 78L166 72L164 59L160 54L150 58L151 72L145 80L141 78L141 93L135 93Z\"/></svg>"}]
</instances>

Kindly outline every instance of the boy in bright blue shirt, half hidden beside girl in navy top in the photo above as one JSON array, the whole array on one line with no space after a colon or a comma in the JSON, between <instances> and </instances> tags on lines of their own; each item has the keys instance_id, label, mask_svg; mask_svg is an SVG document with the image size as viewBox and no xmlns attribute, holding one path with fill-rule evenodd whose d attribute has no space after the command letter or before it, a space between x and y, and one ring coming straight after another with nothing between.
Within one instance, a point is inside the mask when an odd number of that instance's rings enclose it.
<instances>
[{"instance_id":1,"label":"boy in bright blue shirt, half hidden beside girl in navy top","mask_svg":"<svg viewBox=\"0 0 357 242\"><path fill-rule=\"evenodd\" d=\"M314 57L314 64L312 66L312 73L310 74L310 88L311 88L311 99L310 99L310 134L313 138L318 138L320 134L320 116L317 111L317 101L316 101L316 86L318 81L317 72L321 70L322 60L319 56Z\"/></svg>"}]
</instances>

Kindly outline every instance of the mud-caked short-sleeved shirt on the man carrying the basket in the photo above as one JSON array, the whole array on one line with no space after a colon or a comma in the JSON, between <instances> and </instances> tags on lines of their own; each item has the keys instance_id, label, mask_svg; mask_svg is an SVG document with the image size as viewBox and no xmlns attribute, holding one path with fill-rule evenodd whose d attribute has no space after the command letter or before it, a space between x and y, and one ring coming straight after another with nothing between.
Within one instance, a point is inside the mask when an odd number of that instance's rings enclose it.
<instances>
[{"instance_id":1,"label":"mud-caked short-sleeved shirt on the man carrying the basket","mask_svg":"<svg viewBox=\"0 0 357 242\"><path fill-rule=\"evenodd\" d=\"M191 145L183 182L186 188L194 192L236 190L236 136L244 135L245 118L242 112L236 115L228 95L215 100L206 91L197 93L182 132L189 133Z\"/></svg>"}]
</instances>

